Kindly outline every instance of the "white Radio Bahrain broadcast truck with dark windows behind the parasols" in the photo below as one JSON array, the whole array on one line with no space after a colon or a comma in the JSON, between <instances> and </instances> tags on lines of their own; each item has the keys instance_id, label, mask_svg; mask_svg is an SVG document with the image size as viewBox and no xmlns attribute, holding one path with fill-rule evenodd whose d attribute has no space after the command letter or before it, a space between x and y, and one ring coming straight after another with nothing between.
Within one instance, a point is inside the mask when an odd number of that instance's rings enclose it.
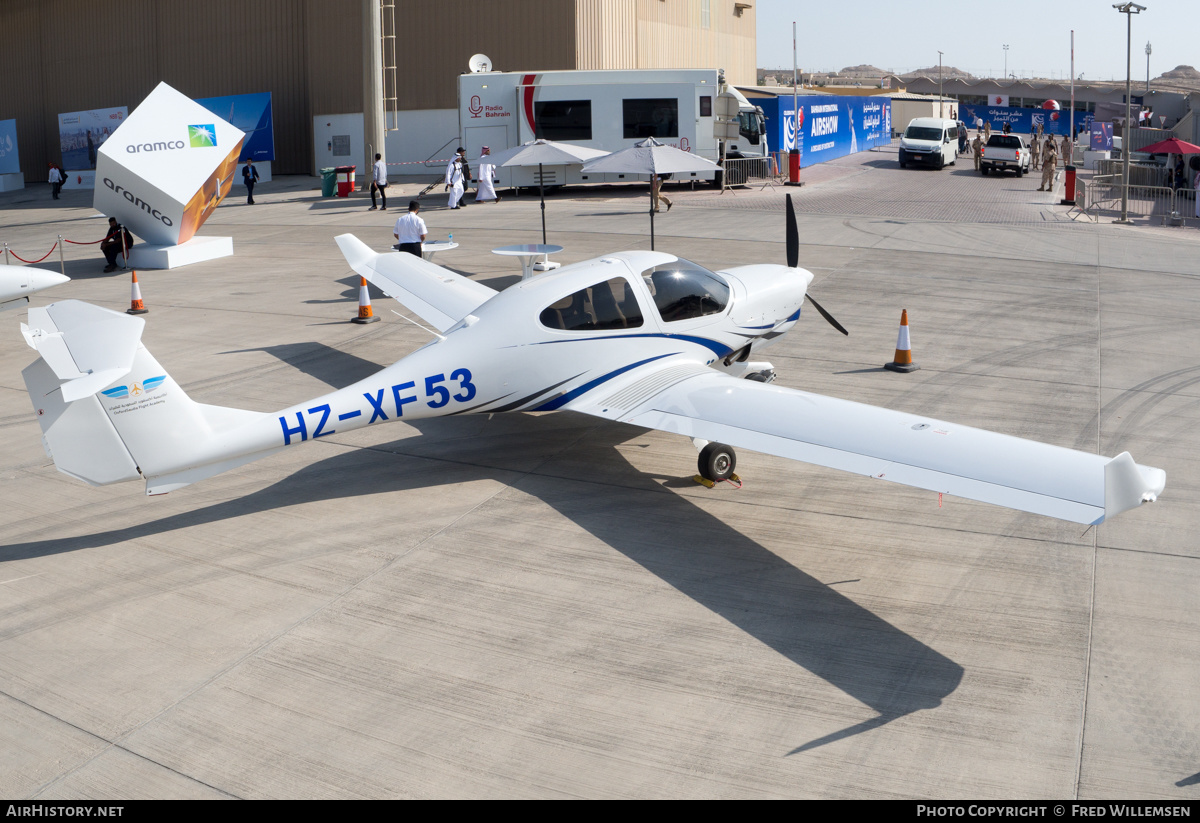
<instances>
[{"instance_id":1,"label":"white Radio Bahrain broadcast truck with dark windows behind the parasols","mask_svg":"<svg viewBox=\"0 0 1200 823\"><path fill-rule=\"evenodd\" d=\"M727 157L767 157L762 109L726 85L715 68L654 71L474 72L458 77L458 134L467 157L535 138L617 151L654 137L666 145L720 158L714 136L721 95L737 101L738 138ZM578 166L544 168L547 186L648 179L635 174L583 174ZM502 186L536 186L538 167L497 169ZM714 173L676 175L712 180Z\"/></svg>"}]
</instances>

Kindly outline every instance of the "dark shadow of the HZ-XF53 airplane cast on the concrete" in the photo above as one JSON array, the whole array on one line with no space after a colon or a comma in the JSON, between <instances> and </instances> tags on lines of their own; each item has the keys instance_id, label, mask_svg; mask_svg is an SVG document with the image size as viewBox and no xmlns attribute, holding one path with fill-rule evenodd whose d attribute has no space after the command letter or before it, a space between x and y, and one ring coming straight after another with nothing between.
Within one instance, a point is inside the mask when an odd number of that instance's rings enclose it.
<instances>
[{"instance_id":1,"label":"dark shadow of the HZ-XF53 airplane cast on the concrete","mask_svg":"<svg viewBox=\"0 0 1200 823\"><path fill-rule=\"evenodd\" d=\"M263 350L334 388L377 368L319 343ZM6 546L0 548L0 560L109 546L311 501L492 479L539 498L678 591L877 713L787 755L936 708L958 687L964 669L953 660L630 465L616 446L638 429L583 417L581 422L590 429L583 446L575 445L580 429L572 429L564 447L516 482L512 469L481 464L488 461L488 444L504 441L493 447L511 451L514 443L544 439L545 421L521 413L505 415L504 437L485 426L487 439L481 441L475 437L479 417L422 420L413 423L418 437L340 453L239 499L110 531ZM364 471L372 458L396 464L386 471ZM596 470L572 471L572 459ZM581 474L604 481L581 480ZM582 483L590 486L587 494L578 493Z\"/></svg>"}]
</instances>

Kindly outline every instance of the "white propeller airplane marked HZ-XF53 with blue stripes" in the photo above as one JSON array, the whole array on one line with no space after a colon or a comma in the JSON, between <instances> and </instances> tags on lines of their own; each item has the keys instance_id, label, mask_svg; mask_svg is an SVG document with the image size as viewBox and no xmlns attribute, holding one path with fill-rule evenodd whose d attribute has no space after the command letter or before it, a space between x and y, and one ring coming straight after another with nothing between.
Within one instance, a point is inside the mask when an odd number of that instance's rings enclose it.
<instances>
[{"instance_id":1,"label":"white propeller airplane marked HZ-XF53 with blue stripes","mask_svg":"<svg viewBox=\"0 0 1200 823\"><path fill-rule=\"evenodd\" d=\"M61 471L94 485L144 479L148 494L364 426L559 409L689 437L709 480L732 474L739 446L1078 523L1163 491L1166 474L1128 452L1108 458L769 385L774 370L751 353L811 301L790 199L787 228L787 266L713 272L634 251L503 292L343 234L350 266L436 340L275 414L192 401L140 344L142 319L73 300L30 310L23 331L41 356L23 374Z\"/></svg>"}]
</instances>

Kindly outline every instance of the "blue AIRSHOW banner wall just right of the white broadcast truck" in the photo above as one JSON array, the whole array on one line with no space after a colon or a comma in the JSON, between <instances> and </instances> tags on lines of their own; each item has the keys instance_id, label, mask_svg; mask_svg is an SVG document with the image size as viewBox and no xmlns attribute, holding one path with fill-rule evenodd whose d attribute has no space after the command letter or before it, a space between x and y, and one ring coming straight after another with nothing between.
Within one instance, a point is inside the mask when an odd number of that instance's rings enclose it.
<instances>
[{"instance_id":1,"label":"blue AIRSHOW banner wall just right of the white broadcast truck","mask_svg":"<svg viewBox=\"0 0 1200 823\"><path fill-rule=\"evenodd\" d=\"M800 164L812 166L892 143L892 100L820 95L799 98L799 118L791 97L763 97L768 145L800 150ZM797 138L797 124L799 137Z\"/></svg>"}]
</instances>

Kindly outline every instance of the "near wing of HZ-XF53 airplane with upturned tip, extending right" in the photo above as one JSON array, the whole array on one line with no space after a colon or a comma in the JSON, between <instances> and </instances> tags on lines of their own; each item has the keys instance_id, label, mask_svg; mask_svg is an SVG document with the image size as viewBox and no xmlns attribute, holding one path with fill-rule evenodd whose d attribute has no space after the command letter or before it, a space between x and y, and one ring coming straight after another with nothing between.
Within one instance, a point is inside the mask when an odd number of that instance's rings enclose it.
<instances>
[{"instance_id":1,"label":"near wing of HZ-XF53 airplane with upturned tip, extending right","mask_svg":"<svg viewBox=\"0 0 1200 823\"><path fill-rule=\"evenodd\" d=\"M566 408L1076 523L1152 501L1166 482L1129 452L1102 457L696 364L623 377Z\"/></svg>"}]
</instances>

